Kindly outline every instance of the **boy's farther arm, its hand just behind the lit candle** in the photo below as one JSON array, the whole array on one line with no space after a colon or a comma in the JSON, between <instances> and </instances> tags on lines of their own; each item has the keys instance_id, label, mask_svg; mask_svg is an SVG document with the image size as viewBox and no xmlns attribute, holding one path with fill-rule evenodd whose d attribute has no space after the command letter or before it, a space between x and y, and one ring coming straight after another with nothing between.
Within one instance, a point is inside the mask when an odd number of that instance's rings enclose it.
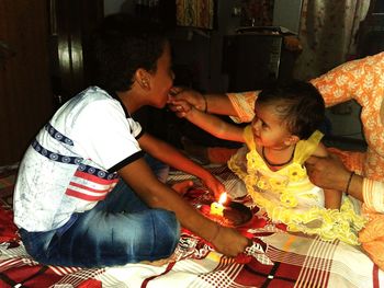
<instances>
[{"instance_id":1,"label":"boy's farther arm, its hand just behind the lit candle","mask_svg":"<svg viewBox=\"0 0 384 288\"><path fill-rule=\"evenodd\" d=\"M212 175L210 171L187 158L169 143L146 133L138 139L138 143L144 151L148 152L150 155L160 160L161 162L201 178L216 197L219 197L219 195L224 192L224 185L214 175Z\"/></svg>"}]
</instances>

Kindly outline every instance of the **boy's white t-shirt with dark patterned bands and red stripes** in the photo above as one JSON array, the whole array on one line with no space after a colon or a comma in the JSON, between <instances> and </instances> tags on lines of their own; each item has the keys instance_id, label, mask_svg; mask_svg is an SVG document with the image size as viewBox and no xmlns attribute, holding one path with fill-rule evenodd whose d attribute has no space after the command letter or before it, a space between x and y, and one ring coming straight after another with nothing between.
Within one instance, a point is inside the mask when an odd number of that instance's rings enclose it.
<instances>
[{"instance_id":1,"label":"boy's white t-shirt with dark patterned bands and red stripes","mask_svg":"<svg viewBox=\"0 0 384 288\"><path fill-rule=\"evenodd\" d=\"M142 127L117 99L92 87L63 105L26 150L14 191L14 222L33 231L65 224L106 197L116 171L143 157Z\"/></svg>"}]
</instances>

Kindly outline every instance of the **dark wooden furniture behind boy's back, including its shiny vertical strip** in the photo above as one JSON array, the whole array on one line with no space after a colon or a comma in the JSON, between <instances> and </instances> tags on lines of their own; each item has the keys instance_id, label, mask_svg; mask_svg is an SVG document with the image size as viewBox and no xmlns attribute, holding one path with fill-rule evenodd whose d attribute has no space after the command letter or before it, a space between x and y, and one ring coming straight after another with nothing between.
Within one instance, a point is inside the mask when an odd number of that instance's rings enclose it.
<instances>
[{"instance_id":1,"label":"dark wooden furniture behind boy's back, including its shiny vertical strip","mask_svg":"<svg viewBox=\"0 0 384 288\"><path fill-rule=\"evenodd\" d=\"M0 1L0 166L88 84L87 41L102 18L103 0Z\"/></svg>"}]
</instances>

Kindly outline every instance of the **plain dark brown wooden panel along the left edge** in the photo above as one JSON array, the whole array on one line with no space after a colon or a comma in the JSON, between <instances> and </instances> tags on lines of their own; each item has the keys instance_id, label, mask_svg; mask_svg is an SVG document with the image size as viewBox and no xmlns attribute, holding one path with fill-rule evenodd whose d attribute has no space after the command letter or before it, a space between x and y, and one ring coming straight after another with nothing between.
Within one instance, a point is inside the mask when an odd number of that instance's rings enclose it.
<instances>
[{"instance_id":1,"label":"plain dark brown wooden panel along the left edge","mask_svg":"<svg viewBox=\"0 0 384 288\"><path fill-rule=\"evenodd\" d=\"M7 45L7 49L0 47L1 168L21 160L52 115L54 100L46 3L1 0L0 19L0 41Z\"/></svg>"}]
</instances>

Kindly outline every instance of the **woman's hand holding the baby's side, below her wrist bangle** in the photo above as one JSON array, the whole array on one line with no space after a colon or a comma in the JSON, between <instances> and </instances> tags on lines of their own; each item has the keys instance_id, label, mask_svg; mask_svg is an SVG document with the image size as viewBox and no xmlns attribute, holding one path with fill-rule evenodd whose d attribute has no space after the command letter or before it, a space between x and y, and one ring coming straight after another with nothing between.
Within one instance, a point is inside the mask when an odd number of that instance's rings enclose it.
<instances>
[{"instance_id":1,"label":"woman's hand holding the baby's side, below her wrist bangle","mask_svg":"<svg viewBox=\"0 0 384 288\"><path fill-rule=\"evenodd\" d=\"M350 171L342 164L341 160L329 154L326 158L310 157L305 166L312 183L326 189L345 191L350 176Z\"/></svg>"}]
</instances>

